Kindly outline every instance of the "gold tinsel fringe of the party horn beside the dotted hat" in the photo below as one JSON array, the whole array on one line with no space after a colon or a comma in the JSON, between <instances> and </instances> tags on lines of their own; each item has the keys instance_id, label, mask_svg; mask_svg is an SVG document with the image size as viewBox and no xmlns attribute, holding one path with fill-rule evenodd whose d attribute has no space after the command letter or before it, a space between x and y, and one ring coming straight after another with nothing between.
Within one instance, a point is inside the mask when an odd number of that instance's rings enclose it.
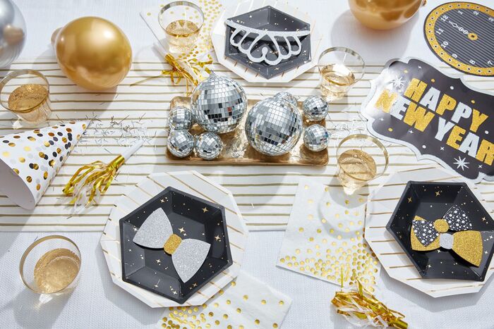
<instances>
[{"instance_id":1,"label":"gold tinsel fringe of the party horn beside the dotted hat","mask_svg":"<svg viewBox=\"0 0 494 329\"><path fill-rule=\"evenodd\" d=\"M86 205L89 205L95 199L97 192L99 194L107 192L123 163L125 163L125 158L119 155L108 164L102 161L95 161L80 167L65 185L64 194L73 197L71 200L71 204L73 204L83 197L82 194L85 193L85 189L82 187L91 186L90 197L86 203ZM79 187L79 184L82 185ZM77 193L74 194L76 187L79 188Z\"/></svg>"}]
</instances>

